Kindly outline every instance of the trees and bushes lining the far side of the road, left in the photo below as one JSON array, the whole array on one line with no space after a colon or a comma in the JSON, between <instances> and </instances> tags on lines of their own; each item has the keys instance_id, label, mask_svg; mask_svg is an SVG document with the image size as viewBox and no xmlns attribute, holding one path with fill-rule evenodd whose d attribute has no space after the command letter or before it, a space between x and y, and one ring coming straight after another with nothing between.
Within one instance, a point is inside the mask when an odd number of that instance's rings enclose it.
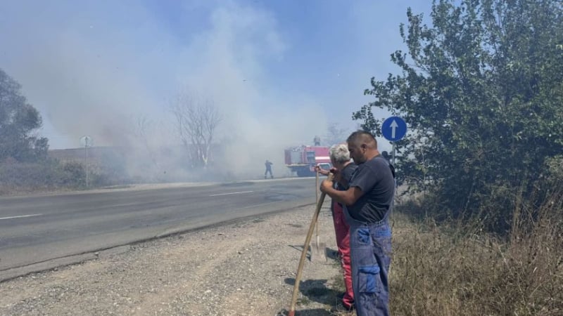
<instances>
[{"instance_id":1,"label":"trees and bushes lining the far side of the road, left","mask_svg":"<svg viewBox=\"0 0 563 316\"><path fill-rule=\"evenodd\" d=\"M135 145L91 147L87 163L84 147L49 150L49 139L39 136L41 114L18 81L0 68L0 196L229 178L216 171L217 162L211 158L221 154L210 146L222 120L217 107L180 93L170 112L182 144L179 148L151 144L153 124L139 117L127 136Z\"/></svg>"}]
</instances>

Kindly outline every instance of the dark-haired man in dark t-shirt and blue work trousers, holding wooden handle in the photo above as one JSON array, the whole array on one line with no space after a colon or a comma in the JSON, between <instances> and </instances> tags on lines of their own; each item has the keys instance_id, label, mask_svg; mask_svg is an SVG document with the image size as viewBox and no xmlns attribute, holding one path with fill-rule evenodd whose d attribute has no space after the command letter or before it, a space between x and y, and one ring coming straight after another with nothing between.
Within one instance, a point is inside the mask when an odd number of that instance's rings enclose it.
<instances>
[{"instance_id":1,"label":"dark-haired man in dark t-shirt and blue work trousers, holding wooden handle","mask_svg":"<svg viewBox=\"0 0 563 316\"><path fill-rule=\"evenodd\" d=\"M358 169L348 190L334 189L324 180L321 191L346 204L350 225L350 253L355 308L358 316L389 315L388 270L391 264L391 227L395 181L392 166L377 150L377 140L365 131L347 140Z\"/></svg>"}]
</instances>

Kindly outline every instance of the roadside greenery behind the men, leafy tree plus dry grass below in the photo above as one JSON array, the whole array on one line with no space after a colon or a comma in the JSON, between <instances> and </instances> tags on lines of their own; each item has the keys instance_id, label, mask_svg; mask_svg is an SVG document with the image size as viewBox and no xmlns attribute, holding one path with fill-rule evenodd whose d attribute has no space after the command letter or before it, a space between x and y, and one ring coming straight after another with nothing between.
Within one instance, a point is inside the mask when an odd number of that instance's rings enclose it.
<instances>
[{"instance_id":1,"label":"roadside greenery behind the men, leafy tree plus dry grass below","mask_svg":"<svg viewBox=\"0 0 563 316\"><path fill-rule=\"evenodd\" d=\"M396 143L392 315L563 315L563 5L436 0L407 11L398 74L355 112Z\"/></svg>"}]
</instances>

